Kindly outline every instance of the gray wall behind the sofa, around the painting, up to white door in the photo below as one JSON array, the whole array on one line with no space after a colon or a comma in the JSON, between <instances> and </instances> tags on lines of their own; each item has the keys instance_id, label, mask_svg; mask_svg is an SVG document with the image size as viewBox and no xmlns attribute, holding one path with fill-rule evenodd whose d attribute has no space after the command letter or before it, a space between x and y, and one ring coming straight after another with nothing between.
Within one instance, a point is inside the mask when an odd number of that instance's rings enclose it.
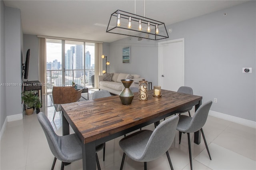
<instances>
[{"instance_id":1,"label":"gray wall behind the sofa, around the painting, up to white door","mask_svg":"<svg viewBox=\"0 0 256 170\"><path fill-rule=\"evenodd\" d=\"M122 48L131 47L131 63L122 63ZM158 42L128 37L110 43L109 73L139 74L152 85L158 85Z\"/></svg>"}]
</instances>

